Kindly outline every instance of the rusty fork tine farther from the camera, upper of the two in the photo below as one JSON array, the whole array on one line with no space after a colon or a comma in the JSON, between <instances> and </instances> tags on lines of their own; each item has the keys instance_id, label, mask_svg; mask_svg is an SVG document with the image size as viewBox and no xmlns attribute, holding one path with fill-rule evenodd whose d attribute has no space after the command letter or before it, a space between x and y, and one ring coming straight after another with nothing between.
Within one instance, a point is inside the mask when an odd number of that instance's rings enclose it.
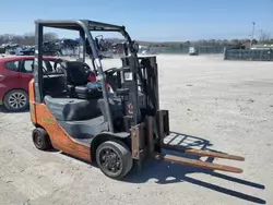
<instances>
[{"instance_id":1,"label":"rusty fork tine farther from the camera, upper of the two","mask_svg":"<svg viewBox=\"0 0 273 205\"><path fill-rule=\"evenodd\" d=\"M166 145L166 144L163 145L163 148L171 149L171 150L176 150L176 152L181 152L181 153L187 153L187 154L192 154L192 155L198 155L198 156L201 156L201 157L214 157L214 158L223 158L223 159L245 161L245 158L240 157L240 156L228 155L228 154L211 152L211 150L200 150L200 149L194 149L194 148L183 148L183 147Z\"/></svg>"}]
</instances>

